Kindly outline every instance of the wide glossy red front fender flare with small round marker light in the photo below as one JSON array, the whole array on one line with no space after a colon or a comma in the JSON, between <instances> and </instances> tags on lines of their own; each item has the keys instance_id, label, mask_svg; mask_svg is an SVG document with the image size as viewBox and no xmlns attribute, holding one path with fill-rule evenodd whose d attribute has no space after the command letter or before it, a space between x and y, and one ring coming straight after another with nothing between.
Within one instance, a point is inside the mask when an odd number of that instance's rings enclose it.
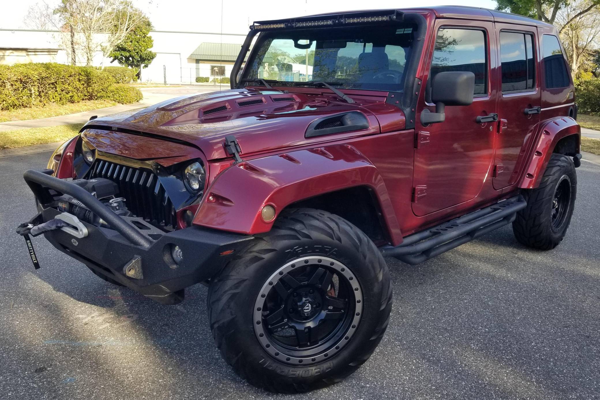
<instances>
[{"instance_id":1,"label":"wide glossy red front fender flare with small round marker light","mask_svg":"<svg viewBox=\"0 0 600 400\"><path fill-rule=\"evenodd\" d=\"M355 147L343 144L230 166L209 187L193 223L250 235L268 232L274 220L262 219L265 205L275 207L278 215L293 202L353 186L374 190L389 237L401 241L400 226L377 168Z\"/></svg>"}]
</instances>

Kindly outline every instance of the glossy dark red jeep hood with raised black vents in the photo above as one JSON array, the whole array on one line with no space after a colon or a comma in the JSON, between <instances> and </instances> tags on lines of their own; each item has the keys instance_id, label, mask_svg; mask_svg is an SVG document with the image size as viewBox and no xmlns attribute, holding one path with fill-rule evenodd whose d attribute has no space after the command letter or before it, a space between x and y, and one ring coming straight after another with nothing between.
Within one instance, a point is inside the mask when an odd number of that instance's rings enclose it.
<instances>
[{"instance_id":1,"label":"glossy dark red jeep hood with raised black vents","mask_svg":"<svg viewBox=\"0 0 600 400\"><path fill-rule=\"evenodd\" d=\"M86 129L104 130L105 135L106 131L131 133L127 136L132 146L145 140L143 136L163 137L199 148L208 160L221 159L230 157L223 147L226 136L236 137L244 155L329 140L325 136L305 137L311 123L329 116L351 113L356 117L360 113L367 121L361 129L337 135L337 131L331 131L335 136L353 136L380 132L375 113L382 109L386 115L401 114L394 106L387 105L381 95L364 98L356 98L355 103L349 104L325 91L232 89L178 97L148 108L97 118L89 121ZM94 132L89 130L86 135ZM104 150L121 153L118 148Z\"/></svg>"}]
</instances>

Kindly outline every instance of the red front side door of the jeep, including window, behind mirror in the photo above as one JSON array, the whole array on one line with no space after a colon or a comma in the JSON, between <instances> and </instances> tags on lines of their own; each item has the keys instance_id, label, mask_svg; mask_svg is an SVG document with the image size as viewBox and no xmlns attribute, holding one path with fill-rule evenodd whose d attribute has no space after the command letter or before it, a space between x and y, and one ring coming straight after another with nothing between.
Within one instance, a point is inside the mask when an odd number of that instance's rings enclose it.
<instances>
[{"instance_id":1,"label":"red front side door of the jeep, including window, behind mirror","mask_svg":"<svg viewBox=\"0 0 600 400\"><path fill-rule=\"evenodd\" d=\"M436 22L435 43L428 52L431 68L425 71L424 83L428 85L442 71L472 71L475 91L472 105L446 106L443 123L422 126L417 118L412 196L417 216L475 198L488 177L497 123L478 123L477 117L497 112L497 88L490 80L490 68L496 65L495 43L492 22ZM424 109L435 112L429 93L427 86L417 115Z\"/></svg>"}]
</instances>

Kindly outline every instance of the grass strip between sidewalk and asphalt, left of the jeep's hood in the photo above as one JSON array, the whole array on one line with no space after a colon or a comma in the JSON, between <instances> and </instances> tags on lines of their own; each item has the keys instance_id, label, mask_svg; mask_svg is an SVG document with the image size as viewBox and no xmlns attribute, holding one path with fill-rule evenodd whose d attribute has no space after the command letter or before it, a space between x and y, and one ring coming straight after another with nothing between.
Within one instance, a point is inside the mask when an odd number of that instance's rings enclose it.
<instances>
[{"instance_id":1,"label":"grass strip between sidewalk and asphalt, left of the jeep's hood","mask_svg":"<svg viewBox=\"0 0 600 400\"><path fill-rule=\"evenodd\" d=\"M83 124L71 124L0 132L0 150L37 144L64 142L77 135L82 126Z\"/></svg>"}]
</instances>

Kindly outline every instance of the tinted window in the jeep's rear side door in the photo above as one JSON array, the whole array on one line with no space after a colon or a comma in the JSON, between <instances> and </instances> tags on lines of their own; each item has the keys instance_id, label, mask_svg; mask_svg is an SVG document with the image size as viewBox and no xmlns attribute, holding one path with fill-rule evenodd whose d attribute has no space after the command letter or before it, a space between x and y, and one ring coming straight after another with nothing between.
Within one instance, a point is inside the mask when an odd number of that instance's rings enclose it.
<instances>
[{"instance_id":1,"label":"tinted window in the jeep's rear side door","mask_svg":"<svg viewBox=\"0 0 600 400\"><path fill-rule=\"evenodd\" d=\"M523 91L535 86L533 36L517 32L500 32L502 91Z\"/></svg>"}]
</instances>

